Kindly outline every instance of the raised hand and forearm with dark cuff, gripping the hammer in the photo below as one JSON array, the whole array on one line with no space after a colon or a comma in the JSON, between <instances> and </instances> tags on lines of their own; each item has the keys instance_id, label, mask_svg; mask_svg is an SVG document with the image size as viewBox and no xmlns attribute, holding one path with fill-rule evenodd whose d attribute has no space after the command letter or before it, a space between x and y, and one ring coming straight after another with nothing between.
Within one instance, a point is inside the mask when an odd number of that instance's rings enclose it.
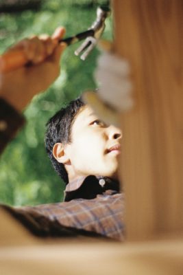
<instances>
[{"instance_id":1,"label":"raised hand and forearm with dark cuff, gripping the hammer","mask_svg":"<svg viewBox=\"0 0 183 275\"><path fill-rule=\"evenodd\" d=\"M14 50L23 51L31 65L8 72L1 72L0 66L0 153L24 124L23 109L59 76L60 57L66 44L58 41L64 32L60 27L51 37L25 39L6 52L8 55Z\"/></svg>"}]
</instances>

